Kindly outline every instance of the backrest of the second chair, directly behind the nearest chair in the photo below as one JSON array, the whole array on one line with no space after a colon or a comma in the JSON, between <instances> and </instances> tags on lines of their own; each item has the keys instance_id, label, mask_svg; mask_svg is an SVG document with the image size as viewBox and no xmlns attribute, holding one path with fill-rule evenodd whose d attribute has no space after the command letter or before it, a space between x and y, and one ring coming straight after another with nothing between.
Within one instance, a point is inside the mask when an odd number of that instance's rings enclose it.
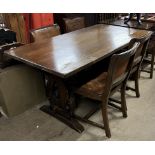
<instances>
[{"instance_id":1,"label":"backrest of the second chair, directly behind the nearest chair","mask_svg":"<svg viewBox=\"0 0 155 155\"><path fill-rule=\"evenodd\" d=\"M133 66L139 65L139 67L140 67L140 65L143 61L143 58L145 56L147 47L148 47L150 37L151 37L151 35L147 35L142 38L134 38L131 40L131 42L129 44L129 48L132 47L135 42L140 43L140 45L136 51L136 54L135 54Z\"/></svg>"}]
</instances>

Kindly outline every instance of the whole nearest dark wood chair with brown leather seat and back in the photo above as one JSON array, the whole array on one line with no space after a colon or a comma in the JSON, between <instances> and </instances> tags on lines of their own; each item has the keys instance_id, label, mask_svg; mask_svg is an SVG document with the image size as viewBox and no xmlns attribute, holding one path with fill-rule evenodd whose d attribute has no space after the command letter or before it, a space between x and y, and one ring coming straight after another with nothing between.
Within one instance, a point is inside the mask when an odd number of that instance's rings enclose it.
<instances>
[{"instance_id":1,"label":"whole nearest dark wood chair with brown leather seat and back","mask_svg":"<svg viewBox=\"0 0 155 155\"><path fill-rule=\"evenodd\" d=\"M109 97L111 94L116 92L116 90L121 88L121 102L120 102L121 107L118 107L117 105L115 106L113 103L109 103L109 104L121 110L123 113L123 117L127 117L125 88L126 88L127 79L132 69L132 63L134 60L135 52L138 46L139 46L139 43L135 43L130 50L120 54L114 54L111 57L109 69L107 72L103 72L97 78L84 84L76 91L76 93L79 95L82 95L94 100L99 100L102 102L101 110L102 110L104 126L102 127L101 125L98 125L98 127L104 128L106 136L109 138L111 137L108 114L107 114L107 105L109 102ZM91 116L91 115L88 114L88 116ZM81 120L84 120L85 122L88 122L89 124L92 124L92 125L96 124L96 123L93 123L92 121L90 122L88 117L81 118Z\"/></svg>"}]
</instances>

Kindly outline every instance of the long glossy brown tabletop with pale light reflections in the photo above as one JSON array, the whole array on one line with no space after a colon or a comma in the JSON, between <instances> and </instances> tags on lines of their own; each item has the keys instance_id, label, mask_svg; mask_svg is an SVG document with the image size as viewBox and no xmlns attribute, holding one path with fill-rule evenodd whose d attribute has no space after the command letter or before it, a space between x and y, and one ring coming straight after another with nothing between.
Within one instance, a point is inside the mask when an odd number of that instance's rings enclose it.
<instances>
[{"instance_id":1,"label":"long glossy brown tabletop with pale light reflections","mask_svg":"<svg viewBox=\"0 0 155 155\"><path fill-rule=\"evenodd\" d=\"M133 37L151 33L111 25L94 25L6 51L8 56L61 78L108 57Z\"/></svg>"}]
</instances>

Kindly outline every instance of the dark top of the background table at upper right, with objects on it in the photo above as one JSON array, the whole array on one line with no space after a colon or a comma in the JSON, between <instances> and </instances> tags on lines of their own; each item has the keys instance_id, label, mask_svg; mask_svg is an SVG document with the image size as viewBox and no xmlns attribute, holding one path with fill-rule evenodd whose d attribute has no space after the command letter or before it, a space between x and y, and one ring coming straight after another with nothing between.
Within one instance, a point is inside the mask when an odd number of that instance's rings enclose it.
<instances>
[{"instance_id":1,"label":"dark top of the background table at upper right, with objects on it","mask_svg":"<svg viewBox=\"0 0 155 155\"><path fill-rule=\"evenodd\" d=\"M131 20L128 22L128 24L124 24L124 19L119 19L116 21L108 21L105 24L122 26L122 27L130 27L130 28L136 28L136 29L141 29L141 30L152 30L152 27L155 27L155 23L147 21L147 20L142 21L141 25L138 25L137 21L135 20Z\"/></svg>"}]
</instances>

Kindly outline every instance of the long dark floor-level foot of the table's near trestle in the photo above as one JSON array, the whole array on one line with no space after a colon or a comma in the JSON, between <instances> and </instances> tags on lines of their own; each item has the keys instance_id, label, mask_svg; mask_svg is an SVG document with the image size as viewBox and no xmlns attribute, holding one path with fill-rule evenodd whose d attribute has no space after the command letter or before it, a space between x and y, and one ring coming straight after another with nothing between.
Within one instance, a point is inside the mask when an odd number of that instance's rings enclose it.
<instances>
[{"instance_id":1,"label":"long dark floor-level foot of the table's near trestle","mask_svg":"<svg viewBox=\"0 0 155 155\"><path fill-rule=\"evenodd\" d=\"M40 108L41 111L54 116L55 118L57 118L58 120L62 121L63 123L65 123L66 125L68 125L69 127L71 127L72 129L76 130L79 133L82 133L84 131L84 127L74 118L67 118L66 116L55 112L50 105L44 105Z\"/></svg>"}]
</instances>

